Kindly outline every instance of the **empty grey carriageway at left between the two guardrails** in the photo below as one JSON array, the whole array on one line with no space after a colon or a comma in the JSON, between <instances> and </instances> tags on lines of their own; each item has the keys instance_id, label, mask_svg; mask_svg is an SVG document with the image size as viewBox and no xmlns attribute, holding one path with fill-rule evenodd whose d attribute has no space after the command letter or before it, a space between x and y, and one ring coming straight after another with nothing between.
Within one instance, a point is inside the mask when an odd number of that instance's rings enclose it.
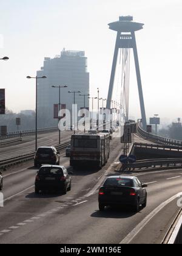
<instances>
[{"instance_id":1,"label":"empty grey carriageway at left between the two guardrails","mask_svg":"<svg viewBox=\"0 0 182 256\"><path fill-rule=\"evenodd\" d=\"M61 132L61 142L70 140L72 132ZM35 135L23 137L21 144L8 145L0 148L0 160L35 151ZM55 146L58 144L58 132L38 135L38 146Z\"/></svg>"}]
</instances>

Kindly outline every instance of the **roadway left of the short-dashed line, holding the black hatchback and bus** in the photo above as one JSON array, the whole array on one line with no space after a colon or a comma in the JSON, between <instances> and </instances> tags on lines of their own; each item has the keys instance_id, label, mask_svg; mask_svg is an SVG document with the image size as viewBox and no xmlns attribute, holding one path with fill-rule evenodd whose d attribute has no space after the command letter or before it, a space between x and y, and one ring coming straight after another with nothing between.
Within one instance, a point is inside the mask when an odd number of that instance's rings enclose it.
<instances>
[{"instance_id":1,"label":"roadway left of the short-dashed line, holding the black hatchback and bus","mask_svg":"<svg viewBox=\"0 0 182 256\"><path fill-rule=\"evenodd\" d=\"M112 141L111 149L116 149L116 152L120 152L121 144L118 143L118 140ZM76 202L79 203L82 200L82 195L94 187L106 168L113 163L115 154L115 151L112 150L107 166L100 171L94 169L74 171L72 191L65 196L61 194L40 194L35 196L32 186L37 169L32 167L32 162L15 166L15 168L4 172L3 193L5 207L0 208L0 219L4 220L0 222L0 230L5 230L7 226L15 226L16 222L21 223L26 218L30 218L30 216L33 218L42 212L60 207L64 203L69 204L72 201L74 201L74 204ZM62 153L61 164L69 167L69 158L63 157L63 155L64 153Z\"/></svg>"}]
</instances>

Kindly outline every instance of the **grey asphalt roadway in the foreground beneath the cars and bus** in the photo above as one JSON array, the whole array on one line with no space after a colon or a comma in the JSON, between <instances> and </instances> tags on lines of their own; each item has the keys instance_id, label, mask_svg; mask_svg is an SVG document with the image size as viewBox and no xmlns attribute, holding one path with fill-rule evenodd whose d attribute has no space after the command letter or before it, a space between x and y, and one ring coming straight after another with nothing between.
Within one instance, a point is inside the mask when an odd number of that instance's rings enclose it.
<instances>
[{"instance_id":1,"label":"grey asphalt roadway in the foreground beneath the cars and bus","mask_svg":"<svg viewBox=\"0 0 182 256\"><path fill-rule=\"evenodd\" d=\"M175 195L182 191L182 169L125 174L148 183L147 207L136 214L115 208L99 212L98 188L108 175L118 174L119 141L112 140L102 170L74 171L66 195L35 195L32 162L5 172L0 243L161 243L179 210ZM64 153L61 164L71 169Z\"/></svg>"}]
</instances>

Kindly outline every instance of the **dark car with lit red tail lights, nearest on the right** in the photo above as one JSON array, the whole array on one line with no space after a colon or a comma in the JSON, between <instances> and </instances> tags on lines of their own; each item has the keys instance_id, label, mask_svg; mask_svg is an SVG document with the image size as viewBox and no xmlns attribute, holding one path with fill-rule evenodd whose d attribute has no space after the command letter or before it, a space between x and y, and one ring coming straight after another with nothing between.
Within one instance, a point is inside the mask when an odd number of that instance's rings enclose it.
<instances>
[{"instance_id":1,"label":"dark car with lit red tail lights, nearest on the right","mask_svg":"<svg viewBox=\"0 0 182 256\"><path fill-rule=\"evenodd\" d=\"M138 212L140 205L143 208L147 205L146 187L137 177L111 176L99 190L99 210L103 211L108 205L121 205Z\"/></svg>"}]
</instances>

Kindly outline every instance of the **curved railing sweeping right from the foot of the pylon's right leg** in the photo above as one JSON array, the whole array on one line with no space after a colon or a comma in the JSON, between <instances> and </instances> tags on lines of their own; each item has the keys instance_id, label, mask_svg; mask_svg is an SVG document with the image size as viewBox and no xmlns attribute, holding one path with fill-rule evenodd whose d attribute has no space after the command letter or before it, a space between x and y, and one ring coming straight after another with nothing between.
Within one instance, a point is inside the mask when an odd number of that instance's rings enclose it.
<instances>
[{"instance_id":1,"label":"curved railing sweeping right from the foot of the pylon's right leg","mask_svg":"<svg viewBox=\"0 0 182 256\"><path fill-rule=\"evenodd\" d=\"M181 146L182 147L182 141L173 140L173 139L170 139L170 138L164 138L164 137L160 137L160 136L154 135L152 133L146 132L145 130L141 129L140 123L138 125L137 131L141 135L141 137L144 137L147 140L153 141L154 143L167 144L167 145Z\"/></svg>"}]
</instances>

